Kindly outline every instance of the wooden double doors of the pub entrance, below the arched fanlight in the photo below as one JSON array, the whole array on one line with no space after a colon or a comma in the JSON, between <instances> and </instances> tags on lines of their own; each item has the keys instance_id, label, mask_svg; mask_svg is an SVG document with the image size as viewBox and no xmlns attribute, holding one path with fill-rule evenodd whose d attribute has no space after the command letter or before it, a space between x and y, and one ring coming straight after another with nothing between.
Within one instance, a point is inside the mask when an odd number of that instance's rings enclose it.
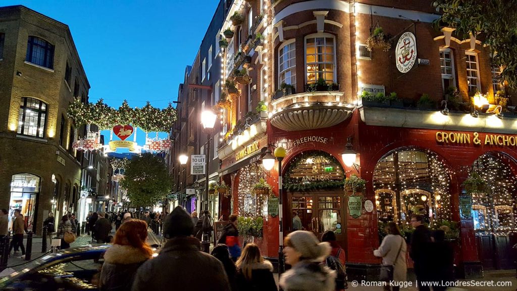
<instances>
[{"instance_id":1,"label":"wooden double doors of the pub entrance, below the arched fanlight","mask_svg":"<svg viewBox=\"0 0 517 291\"><path fill-rule=\"evenodd\" d=\"M298 213L303 230L311 231L321 240L322 234L333 231L341 248L346 250L346 227L343 192L288 192L284 233L293 231L294 213Z\"/></svg>"}]
</instances>

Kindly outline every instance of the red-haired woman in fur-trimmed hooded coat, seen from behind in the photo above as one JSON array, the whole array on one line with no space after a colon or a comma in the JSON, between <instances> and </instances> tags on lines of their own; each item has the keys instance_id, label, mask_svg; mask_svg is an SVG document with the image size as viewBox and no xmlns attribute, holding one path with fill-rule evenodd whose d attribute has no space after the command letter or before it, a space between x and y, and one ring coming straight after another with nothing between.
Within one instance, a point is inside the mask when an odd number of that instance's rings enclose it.
<instances>
[{"instance_id":1,"label":"red-haired woman in fur-trimmed hooded coat, seen from behind","mask_svg":"<svg viewBox=\"0 0 517 291\"><path fill-rule=\"evenodd\" d=\"M153 257L146 243L147 223L132 220L118 228L113 245L104 253L100 273L100 291L126 291L131 289L136 270Z\"/></svg>"}]
</instances>

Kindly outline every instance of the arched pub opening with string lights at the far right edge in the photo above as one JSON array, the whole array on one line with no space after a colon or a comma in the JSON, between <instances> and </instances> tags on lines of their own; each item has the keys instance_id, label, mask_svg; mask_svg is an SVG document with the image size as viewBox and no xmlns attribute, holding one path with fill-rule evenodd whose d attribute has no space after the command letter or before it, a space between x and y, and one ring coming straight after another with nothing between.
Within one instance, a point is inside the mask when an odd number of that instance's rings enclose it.
<instances>
[{"instance_id":1,"label":"arched pub opening with string lights at the far right edge","mask_svg":"<svg viewBox=\"0 0 517 291\"><path fill-rule=\"evenodd\" d=\"M504 154L484 154L476 159L470 178L463 185L464 197L472 199L471 217L478 254L485 269L514 266L511 247L517 243L517 179L510 163L514 162ZM482 186L468 187L466 184L473 177L480 179Z\"/></svg>"}]
</instances>

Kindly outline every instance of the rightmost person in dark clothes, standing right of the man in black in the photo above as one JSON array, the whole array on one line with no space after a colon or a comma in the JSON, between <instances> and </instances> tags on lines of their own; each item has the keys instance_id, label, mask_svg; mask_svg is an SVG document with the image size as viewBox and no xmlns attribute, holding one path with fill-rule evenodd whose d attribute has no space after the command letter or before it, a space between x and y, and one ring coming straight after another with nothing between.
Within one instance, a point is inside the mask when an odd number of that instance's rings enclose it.
<instances>
[{"instance_id":1,"label":"rightmost person in dark clothes, standing right of the man in black","mask_svg":"<svg viewBox=\"0 0 517 291\"><path fill-rule=\"evenodd\" d=\"M454 281L454 249L448 241L445 240L445 231L437 229L433 233L434 242L431 243L432 255L432 281L440 283L439 286L433 286L434 291L446 290L443 282Z\"/></svg>"}]
</instances>

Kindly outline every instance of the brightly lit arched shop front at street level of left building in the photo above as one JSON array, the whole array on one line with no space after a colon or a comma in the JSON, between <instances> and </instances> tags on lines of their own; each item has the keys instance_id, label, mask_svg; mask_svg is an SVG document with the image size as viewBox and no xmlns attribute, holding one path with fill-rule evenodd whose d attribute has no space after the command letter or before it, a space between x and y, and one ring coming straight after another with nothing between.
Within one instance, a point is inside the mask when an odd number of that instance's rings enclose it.
<instances>
[{"instance_id":1,"label":"brightly lit arched shop front at street level of left building","mask_svg":"<svg viewBox=\"0 0 517 291\"><path fill-rule=\"evenodd\" d=\"M41 178L34 174L20 173L11 178L11 199L9 202L9 220L13 220L14 210L20 209L27 229L33 228L37 196L40 191ZM9 225L12 225L9 222Z\"/></svg>"}]
</instances>

